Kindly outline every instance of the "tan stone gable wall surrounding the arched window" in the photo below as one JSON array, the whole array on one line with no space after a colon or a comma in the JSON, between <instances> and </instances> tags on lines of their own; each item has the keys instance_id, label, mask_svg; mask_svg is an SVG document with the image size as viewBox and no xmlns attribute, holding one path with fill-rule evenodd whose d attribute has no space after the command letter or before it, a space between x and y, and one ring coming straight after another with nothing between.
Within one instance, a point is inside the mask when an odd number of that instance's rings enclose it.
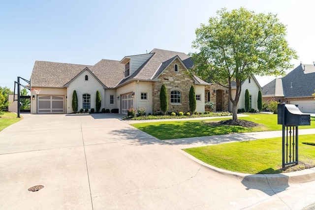
<instances>
[{"instance_id":1,"label":"tan stone gable wall surrounding the arched window","mask_svg":"<svg viewBox=\"0 0 315 210\"><path fill-rule=\"evenodd\" d=\"M178 72L174 71L174 65L178 65ZM194 85L194 80L186 72L182 63L176 59L158 77L153 84L153 112L160 112L159 93L163 84L166 86L168 97L167 112L189 111L189 90ZM171 103L171 91L181 91L181 103Z\"/></svg>"}]
</instances>

